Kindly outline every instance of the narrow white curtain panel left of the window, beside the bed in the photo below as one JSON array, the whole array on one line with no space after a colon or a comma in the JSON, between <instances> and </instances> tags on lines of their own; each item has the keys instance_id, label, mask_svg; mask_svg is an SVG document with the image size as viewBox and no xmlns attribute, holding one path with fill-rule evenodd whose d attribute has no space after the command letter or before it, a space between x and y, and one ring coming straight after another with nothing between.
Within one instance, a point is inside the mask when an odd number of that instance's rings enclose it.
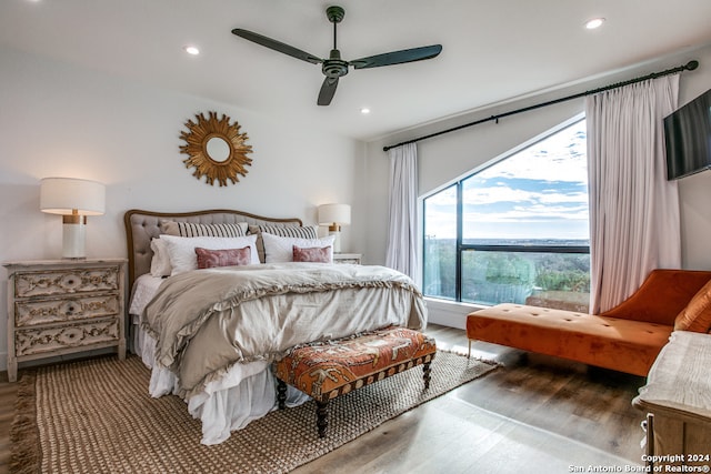
<instances>
[{"instance_id":1,"label":"narrow white curtain panel left of the window, beside the bed","mask_svg":"<svg viewBox=\"0 0 711 474\"><path fill-rule=\"evenodd\" d=\"M388 150L390 198L385 265L419 282L417 250L418 149L414 143Z\"/></svg>"}]
</instances>

